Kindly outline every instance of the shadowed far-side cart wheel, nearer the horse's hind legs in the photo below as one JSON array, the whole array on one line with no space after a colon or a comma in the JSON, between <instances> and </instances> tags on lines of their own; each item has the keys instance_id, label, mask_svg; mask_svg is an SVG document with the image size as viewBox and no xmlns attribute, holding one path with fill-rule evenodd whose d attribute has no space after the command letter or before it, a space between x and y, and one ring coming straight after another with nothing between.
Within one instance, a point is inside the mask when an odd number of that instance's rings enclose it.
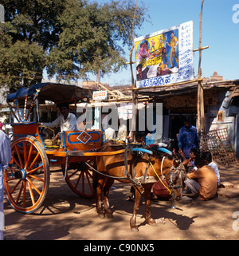
<instances>
[{"instance_id":1,"label":"shadowed far-side cart wheel, nearer the horse's hind legs","mask_svg":"<svg viewBox=\"0 0 239 256\"><path fill-rule=\"evenodd\" d=\"M63 175L65 175L65 166L62 165ZM84 162L69 163L65 181L76 195L92 198L96 195L94 189L94 172L91 171Z\"/></svg>"}]
</instances>

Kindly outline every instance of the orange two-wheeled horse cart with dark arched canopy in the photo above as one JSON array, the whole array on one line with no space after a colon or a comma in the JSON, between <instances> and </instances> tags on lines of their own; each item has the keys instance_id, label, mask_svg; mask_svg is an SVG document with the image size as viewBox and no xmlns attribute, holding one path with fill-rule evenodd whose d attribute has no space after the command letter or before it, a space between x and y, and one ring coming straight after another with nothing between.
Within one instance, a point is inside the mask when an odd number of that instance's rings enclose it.
<instances>
[{"instance_id":1,"label":"orange two-wheeled horse cart with dark arched canopy","mask_svg":"<svg viewBox=\"0 0 239 256\"><path fill-rule=\"evenodd\" d=\"M61 165L66 183L77 195L92 197L93 175L88 164L96 156L113 152L96 152L103 143L101 130L67 131L61 133L61 144L48 147L42 139L38 121L27 122L30 112L37 116L37 105L45 100L77 103L88 100L91 91L74 85L36 84L7 96L7 102L18 123L13 127L12 160L3 171L7 199L22 213L33 213L43 203L49 189L50 165ZM17 115L20 107L23 117Z\"/></svg>"}]
</instances>

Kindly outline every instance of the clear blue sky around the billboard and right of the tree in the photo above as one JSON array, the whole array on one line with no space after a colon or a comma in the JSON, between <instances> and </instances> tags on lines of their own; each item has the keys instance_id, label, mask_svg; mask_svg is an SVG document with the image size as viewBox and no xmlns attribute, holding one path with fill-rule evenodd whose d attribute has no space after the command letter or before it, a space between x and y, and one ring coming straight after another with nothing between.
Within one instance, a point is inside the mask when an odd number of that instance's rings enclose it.
<instances>
[{"instance_id":1,"label":"clear blue sky around the billboard and right of the tree","mask_svg":"<svg viewBox=\"0 0 239 256\"><path fill-rule=\"evenodd\" d=\"M104 2L102 0L99 2ZM138 0L140 3L141 1ZM148 7L151 22L145 22L140 36L168 29L184 22L194 22L194 49L198 48L199 15L202 0L144 0ZM202 51L202 76L210 77L214 71L225 80L239 79L239 5L237 0L205 0L202 14L202 46L210 49ZM237 7L237 6L236 6ZM238 12L238 13L237 13ZM233 22L238 18L238 23ZM129 59L129 53L126 57ZM135 60L135 58L134 58ZM135 66L134 66L135 69ZM194 53L194 73L198 75L198 52ZM96 78L92 77L92 80ZM120 73L112 73L101 78L101 82L109 85L127 85L131 83L130 69Z\"/></svg>"}]
</instances>

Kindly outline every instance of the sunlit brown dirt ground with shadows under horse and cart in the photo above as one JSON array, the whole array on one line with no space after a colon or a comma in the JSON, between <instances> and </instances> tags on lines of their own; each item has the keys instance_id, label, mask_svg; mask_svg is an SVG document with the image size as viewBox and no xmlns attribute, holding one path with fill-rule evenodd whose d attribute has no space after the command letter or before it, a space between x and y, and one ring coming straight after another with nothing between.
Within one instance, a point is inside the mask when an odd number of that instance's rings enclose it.
<instances>
[{"instance_id":1,"label":"sunlit brown dirt ground with shadows under horse and cart","mask_svg":"<svg viewBox=\"0 0 239 256\"><path fill-rule=\"evenodd\" d=\"M131 232L129 220L133 203L126 200L130 185L114 183L109 202L114 218L96 215L96 199L75 195L62 179L60 170L52 170L48 195L32 215L14 211L5 199L5 240L236 240L239 238L239 164L220 167L221 181L234 187L218 191L217 199L202 202L151 203L151 215L157 226L144 222L144 203ZM163 223L164 222L164 223Z\"/></svg>"}]
</instances>

